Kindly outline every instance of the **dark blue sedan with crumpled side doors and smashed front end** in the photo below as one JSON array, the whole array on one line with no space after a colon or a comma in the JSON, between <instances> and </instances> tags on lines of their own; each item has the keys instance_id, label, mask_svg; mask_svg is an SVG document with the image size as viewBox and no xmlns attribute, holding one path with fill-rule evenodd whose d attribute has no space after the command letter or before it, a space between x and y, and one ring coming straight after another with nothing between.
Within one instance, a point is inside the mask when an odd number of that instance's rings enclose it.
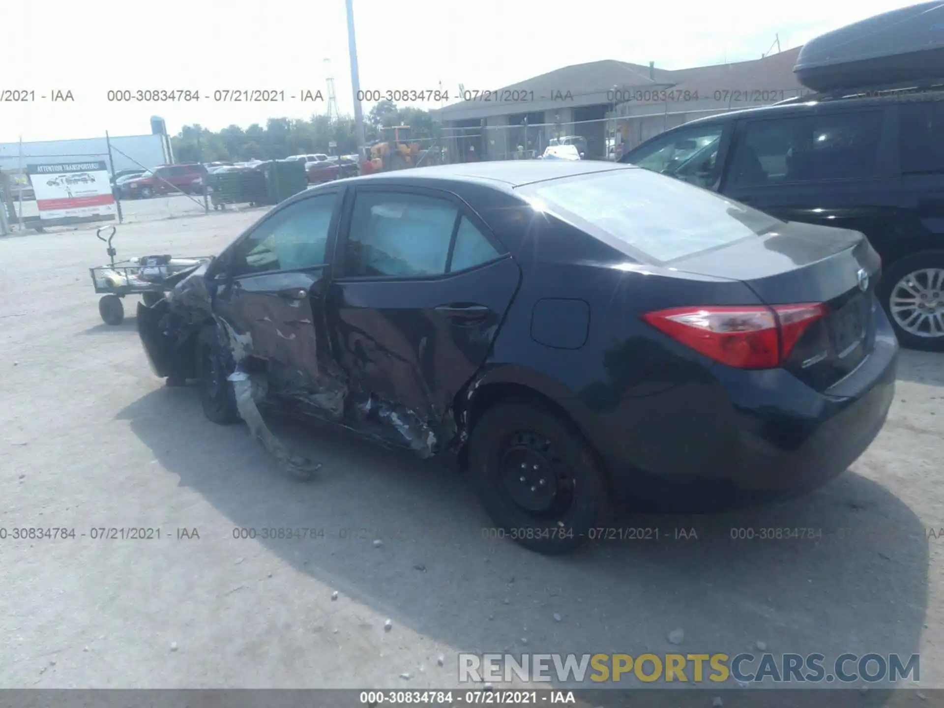
<instances>
[{"instance_id":1,"label":"dark blue sedan with crumpled side doors and smashed front end","mask_svg":"<svg viewBox=\"0 0 944 708\"><path fill-rule=\"evenodd\" d=\"M204 412L259 406L423 457L458 454L529 548L616 500L784 497L885 422L898 344L859 232L780 221L629 165L485 162L297 194L139 305Z\"/></svg>"}]
</instances>

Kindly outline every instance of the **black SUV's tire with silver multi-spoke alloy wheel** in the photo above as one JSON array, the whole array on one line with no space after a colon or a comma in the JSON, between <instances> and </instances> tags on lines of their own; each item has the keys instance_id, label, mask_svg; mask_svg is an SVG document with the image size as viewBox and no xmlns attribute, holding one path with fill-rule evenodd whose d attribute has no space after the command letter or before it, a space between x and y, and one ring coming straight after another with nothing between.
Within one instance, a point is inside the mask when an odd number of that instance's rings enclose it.
<instances>
[{"instance_id":1,"label":"black SUV's tire with silver multi-spoke alloy wheel","mask_svg":"<svg viewBox=\"0 0 944 708\"><path fill-rule=\"evenodd\" d=\"M936 328L940 329L944 325L944 251L924 251L893 262L882 275L877 288L882 307L902 346L922 351L944 351L944 333L929 336L927 321L918 327L909 322L916 310L904 306L905 298L910 299L906 285L912 292L927 295L922 299L932 303L938 322Z\"/></svg>"}]
</instances>

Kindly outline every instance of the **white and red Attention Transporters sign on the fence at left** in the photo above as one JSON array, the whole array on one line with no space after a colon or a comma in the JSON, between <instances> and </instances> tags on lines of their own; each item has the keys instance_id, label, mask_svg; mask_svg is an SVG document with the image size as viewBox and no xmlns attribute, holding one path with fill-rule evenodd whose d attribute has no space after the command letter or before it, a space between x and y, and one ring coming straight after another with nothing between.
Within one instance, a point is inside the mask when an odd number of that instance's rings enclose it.
<instances>
[{"instance_id":1,"label":"white and red Attention Transporters sign on the fence at left","mask_svg":"<svg viewBox=\"0 0 944 708\"><path fill-rule=\"evenodd\" d=\"M104 160L27 164L42 221L113 219L114 195Z\"/></svg>"}]
</instances>

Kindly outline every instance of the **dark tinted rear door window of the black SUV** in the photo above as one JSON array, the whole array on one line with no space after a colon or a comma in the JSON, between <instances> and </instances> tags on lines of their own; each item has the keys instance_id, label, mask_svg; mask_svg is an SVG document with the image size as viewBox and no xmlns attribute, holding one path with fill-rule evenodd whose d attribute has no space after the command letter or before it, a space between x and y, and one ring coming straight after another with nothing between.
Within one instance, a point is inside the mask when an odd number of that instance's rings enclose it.
<instances>
[{"instance_id":1,"label":"dark tinted rear door window of the black SUV","mask_svg":"<svg viewBox=\"0 0 944 708\"><path fill-rule=\"evenodd\" d=\"M879 110L750 121L734 144L729 185L871 177L881 128Z\"/></svg>"}]
</instances>

